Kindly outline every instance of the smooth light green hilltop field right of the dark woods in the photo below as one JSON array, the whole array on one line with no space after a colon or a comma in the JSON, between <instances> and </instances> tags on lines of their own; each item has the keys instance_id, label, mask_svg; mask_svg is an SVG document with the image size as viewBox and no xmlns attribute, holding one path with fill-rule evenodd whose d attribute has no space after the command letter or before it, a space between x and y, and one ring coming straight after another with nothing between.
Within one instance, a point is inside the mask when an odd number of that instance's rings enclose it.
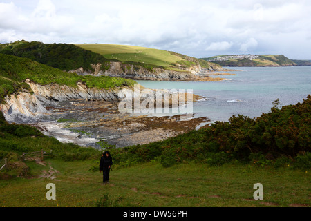
<instances>
[{"instance_id":1,"label":"smooth light green hilltop field right of the dark woods","mask_svg":"<svg viewBox=\"0 0 311 221\"><path fill-rule=\"evenodd\" d=\"M109 60L122 62L131 61L164 68L173 68L180 61L186 61L177 55L172 55L167 50L144 48L138 46L113 45L113 44L78 44L77 46L103 55Z\"/></svg>"}]
</instances>

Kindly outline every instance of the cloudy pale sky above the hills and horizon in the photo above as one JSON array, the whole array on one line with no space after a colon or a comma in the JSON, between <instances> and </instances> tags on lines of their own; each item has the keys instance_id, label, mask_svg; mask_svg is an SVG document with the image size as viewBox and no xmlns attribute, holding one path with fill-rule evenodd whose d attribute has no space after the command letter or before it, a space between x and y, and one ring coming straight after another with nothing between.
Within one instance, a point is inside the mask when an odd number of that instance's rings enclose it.
<instances>
[{"instance_id":1,"label":"cloudy pale sky above the hills and horizon","mask_svg":"<svg viewBox=\"0 0 311 221\"><path fill-rule=\"evenodd\" d=\"M22 39L311 59L311 1L0 0L0 43Z\"/></svg>"}]
</instances>

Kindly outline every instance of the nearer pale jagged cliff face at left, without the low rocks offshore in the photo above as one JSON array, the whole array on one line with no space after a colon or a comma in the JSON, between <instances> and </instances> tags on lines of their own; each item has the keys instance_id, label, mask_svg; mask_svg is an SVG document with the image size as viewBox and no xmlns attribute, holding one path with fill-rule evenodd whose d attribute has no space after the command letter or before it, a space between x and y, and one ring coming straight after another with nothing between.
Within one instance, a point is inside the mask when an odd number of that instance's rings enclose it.
<instances>
[{"instance_id":1,"label":"nearer pale jagged cliff face at left, without the low rocks offshore","mask_svg":"<svg viewBox=\"0 0 311 221\"><path fill-rule=\"evenodd\" d=\"M61 102L74 99L119 101L131 90L126 87L110 90L88 88L82 83L78 83L76 88L58 84L40 85L30 79L27 79L26 83L29 84L32 93L21 92L7 96L5 102L0 104L0 111L10 122L20 122L23 121L21 118L31 119L48 113L44 106L50 101Z\"/></svg>"}]
</instances>

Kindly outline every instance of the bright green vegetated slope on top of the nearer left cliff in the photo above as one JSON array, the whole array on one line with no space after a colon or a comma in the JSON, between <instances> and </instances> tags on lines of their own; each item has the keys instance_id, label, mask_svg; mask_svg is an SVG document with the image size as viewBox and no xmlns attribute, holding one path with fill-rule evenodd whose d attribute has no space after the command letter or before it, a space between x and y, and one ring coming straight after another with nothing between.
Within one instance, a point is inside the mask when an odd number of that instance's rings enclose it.
<instances>
[{"instance_id":1,"label":"bright green vegetated slope on top of the nearer left cliff","mask_svg":"<svg viewBox=\"0 0 311 221\"><path fill-rule=\"evenodd\" d=\"M30 90L28 84L23 83L31 79L38 84L59 84L77 86L78 81L84 82L88 87L113 88L117 86L133 86L135 81L117 77L81 76L76 73L65 73L62 70L40 64L27 58L0 53L0 101L6 95L17 93L22 88Z\"/></svg>"}]
</instances>

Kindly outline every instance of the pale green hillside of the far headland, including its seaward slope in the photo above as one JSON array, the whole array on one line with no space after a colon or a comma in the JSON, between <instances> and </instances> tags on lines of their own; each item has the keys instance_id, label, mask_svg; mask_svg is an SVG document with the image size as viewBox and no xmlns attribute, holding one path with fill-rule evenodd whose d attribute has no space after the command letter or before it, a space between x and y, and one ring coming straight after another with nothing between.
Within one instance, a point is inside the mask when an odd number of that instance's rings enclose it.
<instances>
[{"instance_id":1,"label":"pale green hillside of the far headland, including its seaward slope","mask_svg":"<svg viewBox=\"0 0 311 221\"><path fill-rule=\"evenodd\" d=\"M147 68L151 66L181 71L178 68L189 68L198 64L203 68L210 68L212 65L216 66L216 64L210 64L201 59L180 55L167 50L113 44L78 44L77 46L103 55L109 60L140 64Z\"/></svg>"}]
</instances>

